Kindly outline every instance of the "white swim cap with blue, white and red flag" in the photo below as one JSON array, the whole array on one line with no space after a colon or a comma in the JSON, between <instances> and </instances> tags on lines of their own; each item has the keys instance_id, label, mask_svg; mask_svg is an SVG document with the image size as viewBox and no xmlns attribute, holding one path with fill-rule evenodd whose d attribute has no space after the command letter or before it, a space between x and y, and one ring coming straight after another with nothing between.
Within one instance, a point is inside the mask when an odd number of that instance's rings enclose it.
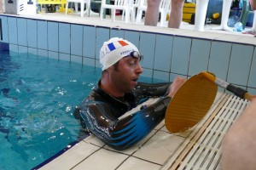
<instances>
[{"instance_id":1,"label":"white swim cap with blue, white and red flag","mask_svg":"<svg viewBox=\"0 0 256 170\"><path fill-rule=\"evenodd\" d=\"M123 38L113 37L108 42L104 42L100 51L102 71L108 69L119 59L131 54L133 51L138 51L137 47Z\"/></svg>"}]
</instances>

